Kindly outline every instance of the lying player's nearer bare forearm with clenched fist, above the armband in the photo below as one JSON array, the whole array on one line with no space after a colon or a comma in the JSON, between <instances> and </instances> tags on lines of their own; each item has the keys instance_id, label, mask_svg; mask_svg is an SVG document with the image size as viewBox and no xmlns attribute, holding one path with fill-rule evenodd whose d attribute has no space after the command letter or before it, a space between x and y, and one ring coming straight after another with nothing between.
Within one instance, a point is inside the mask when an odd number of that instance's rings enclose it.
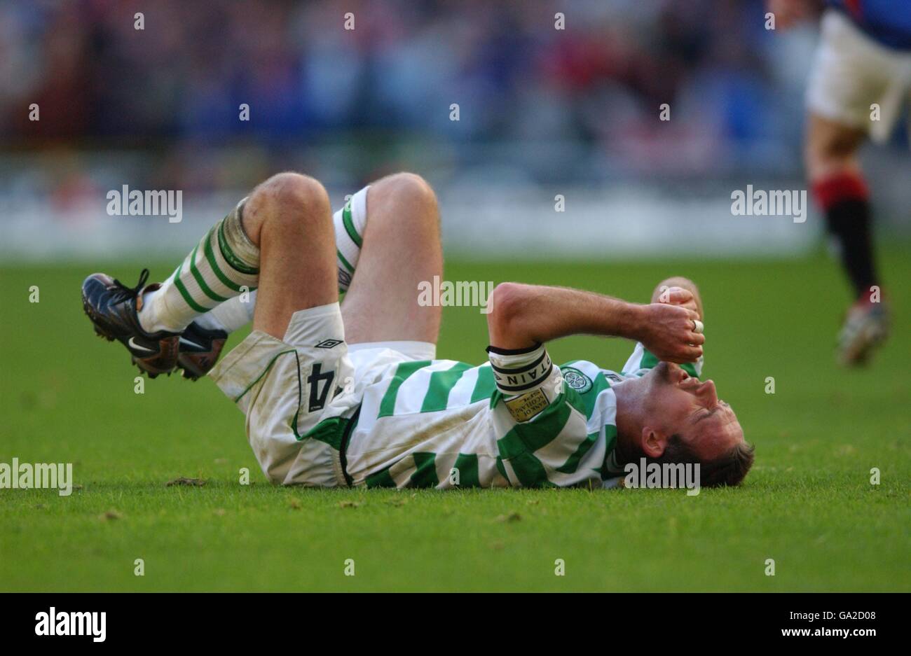
<instances>
[{"instance_id":1,"label":"lying player's nearer bare forearm with clenched fist, above the armband","mask_svg":"<svg viewBox=\"0 0 911 656\"><path fill-rule=\"evenodd\" d=\"M490 343L504 349L531 348L569 335L601 335L640 341L669 362L694 362L705 338L694 333L698 312L682 307L691 292L673 288L677 304L638 305L580 289L501 283L487 314Z\"/></svg>"}]
</instances>

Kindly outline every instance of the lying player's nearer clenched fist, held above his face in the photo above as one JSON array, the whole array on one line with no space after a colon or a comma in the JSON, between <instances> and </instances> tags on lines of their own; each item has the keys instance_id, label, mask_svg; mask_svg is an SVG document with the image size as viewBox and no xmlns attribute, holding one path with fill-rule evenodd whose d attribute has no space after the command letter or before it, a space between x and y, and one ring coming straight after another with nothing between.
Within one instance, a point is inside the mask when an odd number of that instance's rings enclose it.
<instances>
[{"instance_id":1,"label":"lying player's nearer clenched fist, held above his face","mask_svg":"<svg viewBox=\"0 0 911 656\"><path fill-rule=\"evenodd\" d=\"M681 291L690 294L685 289ZM656 358L677 364L701 358L705 336L693 332L693 321L699 319L696 310L669 303L652 303L642 309L644 320L639 340Z\"/></svg>"}]
</instances>

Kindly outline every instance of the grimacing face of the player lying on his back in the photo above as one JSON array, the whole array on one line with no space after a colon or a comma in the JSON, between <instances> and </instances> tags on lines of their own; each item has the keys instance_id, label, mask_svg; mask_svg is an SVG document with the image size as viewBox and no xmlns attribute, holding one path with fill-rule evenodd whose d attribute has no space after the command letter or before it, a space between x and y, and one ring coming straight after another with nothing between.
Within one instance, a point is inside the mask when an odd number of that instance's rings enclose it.
<instances>
[{"instance_id":1,"label":"grimacing face of the player lying on his back","mask_svg":"<svg viewBox=\"0 0 911 656\"><path fill-rule=\"evenodd\" d=\"M671 433L678 433L701 459L714 459L743 441L743 429L715 383L692 378L678 365L661 362L652 372L652 401Z\"/></svg>"}]
</instances>

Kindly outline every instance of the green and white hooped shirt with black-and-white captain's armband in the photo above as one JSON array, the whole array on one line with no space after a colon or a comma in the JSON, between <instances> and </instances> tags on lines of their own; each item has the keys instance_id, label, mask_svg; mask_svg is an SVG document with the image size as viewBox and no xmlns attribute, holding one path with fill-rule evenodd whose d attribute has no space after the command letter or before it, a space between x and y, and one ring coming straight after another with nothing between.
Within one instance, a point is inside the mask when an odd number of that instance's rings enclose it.
<instances>
[{"instance_id":1,"label":"green and white hooped shirt with black-and-white captain's armband","mask_svg":"<svg viewBox=\"0 0 911 656\"><path fill-rule=\"evenodd\" d=\"M340 450L354 486L613 487L611 385L658 363L638 344L622 373L586 360L555 366L544 345L488 348L479 367L402 362L363 392ZM701 361L684 368L693 376Z\"/></svg>"}]
</instances>

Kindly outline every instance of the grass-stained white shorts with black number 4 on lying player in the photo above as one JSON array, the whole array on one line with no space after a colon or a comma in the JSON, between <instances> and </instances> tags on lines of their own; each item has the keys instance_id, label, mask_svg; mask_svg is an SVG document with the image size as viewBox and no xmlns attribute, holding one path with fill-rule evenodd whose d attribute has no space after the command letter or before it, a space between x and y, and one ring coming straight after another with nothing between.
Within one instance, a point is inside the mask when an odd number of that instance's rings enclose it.
<instances>
[{"instance_id":1,"label":"grass-stained white shorts with black number 4 on lying player","mask_svg":"<svg viewBox=\"0 0 911 656\"><path fill-rule=\"evenodd\" d=\"M247 438L268 479L343 487L338 442L363 389L400 362L433 359L435 351L417 341L349 345L341 308L332 303L295 312L282 339L252 331L209 375L246 415Z\"/></svg>"}]
</instances>

